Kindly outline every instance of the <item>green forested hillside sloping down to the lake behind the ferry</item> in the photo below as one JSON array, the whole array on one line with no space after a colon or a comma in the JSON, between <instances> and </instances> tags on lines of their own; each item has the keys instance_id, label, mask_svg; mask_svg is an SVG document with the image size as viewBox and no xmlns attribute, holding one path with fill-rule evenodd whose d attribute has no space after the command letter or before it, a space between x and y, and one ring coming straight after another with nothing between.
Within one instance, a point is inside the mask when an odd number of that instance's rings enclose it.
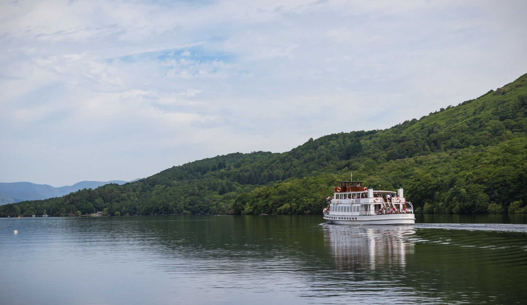
<instances>
[{"instance_id":1,"label":"green forested hillside sloping down to the lake behind the ferry","mask_svg":"<svg viewBox=\"0 0 527 305\"><path fill-rule=\"evenodd\" d=\"M309 139L282 154L234 153L124 185L0 206L0 215L321 214L339 180L406 189L424 213L525 213L527 74L385 130Z\"/></svg>"}]
</instances>

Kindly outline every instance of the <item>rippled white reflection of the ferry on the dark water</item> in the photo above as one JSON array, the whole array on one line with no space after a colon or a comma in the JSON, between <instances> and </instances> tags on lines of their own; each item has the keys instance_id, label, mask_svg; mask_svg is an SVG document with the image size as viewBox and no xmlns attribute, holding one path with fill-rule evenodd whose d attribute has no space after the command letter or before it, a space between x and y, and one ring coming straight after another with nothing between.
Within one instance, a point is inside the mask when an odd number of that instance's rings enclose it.
<instances>
[{"instance_id":1,"label":"rippled white reflection of the ferry on the dark water","mask_svg":"<svg viewBox=\"0 0 527 305\"><path fill-rule=\"evenodd\" d=\"M404 268L414 253L413 226L326 225L325 237L338 268L354 271Z\"/></svg>"}]
</instances>

